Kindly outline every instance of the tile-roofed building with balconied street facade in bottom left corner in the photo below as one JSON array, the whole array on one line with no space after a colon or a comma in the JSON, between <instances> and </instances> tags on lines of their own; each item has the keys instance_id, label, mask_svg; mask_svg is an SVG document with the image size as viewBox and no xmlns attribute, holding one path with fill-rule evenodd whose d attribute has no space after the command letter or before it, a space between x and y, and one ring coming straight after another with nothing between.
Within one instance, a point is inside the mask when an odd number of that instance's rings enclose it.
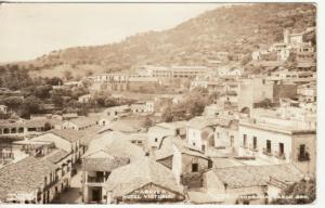
<instances>
[{"instance_id":1,"label":"tile-roofed building with balconied street facade in bottom left corner","mask_svg":"<svg viewBox=\"0 0 325 208\"><path fill-rule=\"evenodd\" d=\"M1 202L49 204L69 187L70 153L52 142L27 141L22 150L30 156L0 169Z\"/></svg>"}]
</instances>

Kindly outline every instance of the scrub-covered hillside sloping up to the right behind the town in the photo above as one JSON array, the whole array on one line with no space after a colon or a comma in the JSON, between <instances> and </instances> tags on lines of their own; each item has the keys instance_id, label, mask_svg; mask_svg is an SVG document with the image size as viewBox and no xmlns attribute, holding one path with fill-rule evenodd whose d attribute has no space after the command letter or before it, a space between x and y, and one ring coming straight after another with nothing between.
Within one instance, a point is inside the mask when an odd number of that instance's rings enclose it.
<instances>
[{"instance_id":1,"label":"scrub-covered hillside sloping up to the right behind the town","mask_svg":"<svg viewBox=\"0 0 325 208\"><path fill-rule=\"evenodd\" d=\"M100 47L53 51L20 63L34 76L129 70L141 64L205 65L218 52L236 61L252 50L282 41L284 28L315 26L316 9L303 3L258 3L218 8L164 31L148 31Z\"/></svg>"}]
</instances>

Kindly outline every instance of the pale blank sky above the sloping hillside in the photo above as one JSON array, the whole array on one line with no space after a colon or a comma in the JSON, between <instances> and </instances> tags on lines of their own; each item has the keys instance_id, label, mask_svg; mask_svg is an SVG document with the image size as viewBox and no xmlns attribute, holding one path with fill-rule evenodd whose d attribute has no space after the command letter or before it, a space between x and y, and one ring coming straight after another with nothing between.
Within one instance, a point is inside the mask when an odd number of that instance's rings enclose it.
<instances>
[{"instance_id":1,"label":"pale blank sky above the sloping hillside","mask_svg":"<svg viewBox=\"0 0 325 208\"><path fill-rule=\"evenodd\" d=\"M0 63L169 29L220 3L3 3Z\"/></svg>"}]
</instances>

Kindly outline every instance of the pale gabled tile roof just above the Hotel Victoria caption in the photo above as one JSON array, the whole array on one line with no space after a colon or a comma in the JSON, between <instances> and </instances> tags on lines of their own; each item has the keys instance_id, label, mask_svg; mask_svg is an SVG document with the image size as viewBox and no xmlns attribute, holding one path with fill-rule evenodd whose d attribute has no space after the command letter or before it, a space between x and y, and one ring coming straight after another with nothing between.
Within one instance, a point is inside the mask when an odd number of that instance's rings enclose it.
<instances>
[{"instance_id":1,"label":"pale gabled tile roof just above the Hotel Victoria caption","mask_svg":"<svg viewBox=\"0 0 325 208\"><path fill-rule=\"evenodd\" d=\"M113 197L119 197L139 190L148 183L183 195L183 190L177 184L171 170L151 157L144 157L143 159L113 170L105 182L105 187L107 191L113 192Z\"/></svg>"}]
</instances>

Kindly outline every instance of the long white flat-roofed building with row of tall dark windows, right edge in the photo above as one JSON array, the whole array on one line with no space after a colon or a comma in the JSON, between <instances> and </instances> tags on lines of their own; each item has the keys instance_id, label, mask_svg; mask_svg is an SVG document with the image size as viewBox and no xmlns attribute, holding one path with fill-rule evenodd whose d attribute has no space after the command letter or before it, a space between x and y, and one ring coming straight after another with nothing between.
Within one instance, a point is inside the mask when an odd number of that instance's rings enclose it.
<instances>
[{"instance_id":1,"label":"long white flat-roofed building with row of tall dark windows, right edge","mask_svg":"<svg viewBox=\"0 0 325 208\"><path fill-rule=\"evenodd\" d=\"M294 164L303 172L315 172L315 129L274 117L240 120L242 156L255 156L273 164Z\"/></svg>"}]
</instances>

